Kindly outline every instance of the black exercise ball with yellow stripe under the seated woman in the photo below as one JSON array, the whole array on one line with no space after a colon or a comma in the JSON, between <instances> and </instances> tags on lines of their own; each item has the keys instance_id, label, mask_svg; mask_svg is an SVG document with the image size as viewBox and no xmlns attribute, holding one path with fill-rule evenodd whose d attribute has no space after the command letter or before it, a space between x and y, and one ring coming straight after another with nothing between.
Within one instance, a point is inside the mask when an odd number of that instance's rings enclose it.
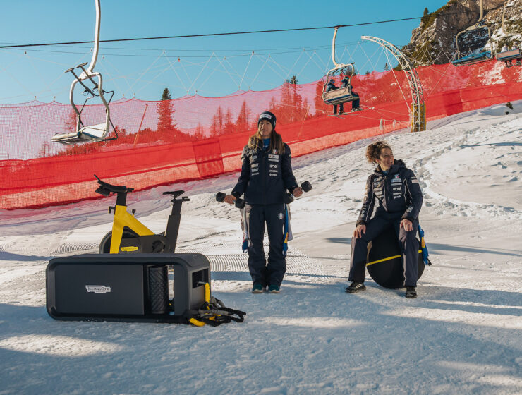
<instances>
[{"instance_id":1,"label":"black exercise ball with yellow stripe under the seated woman","mask_svg":"<svg viewBox=\"0 0 522 395\"><path fill-rule=\"evenodd\" d=\"M419 243L420 251L420 243ZM368 274L384 288L404 288L403 267L399 239L393 228L388 228L368 244L366 269ZM419 253L419 274L423 275L423 253Z\"/></svg>"}]
</instances>

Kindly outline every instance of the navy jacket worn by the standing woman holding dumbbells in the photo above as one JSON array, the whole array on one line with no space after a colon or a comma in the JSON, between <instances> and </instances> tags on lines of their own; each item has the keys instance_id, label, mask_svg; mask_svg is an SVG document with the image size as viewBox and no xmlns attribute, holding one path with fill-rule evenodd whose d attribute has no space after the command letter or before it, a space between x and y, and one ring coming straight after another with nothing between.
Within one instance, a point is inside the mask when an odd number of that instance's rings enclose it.
<instances>
[{"instance_id":1,"label":"navy jacket worn by the standing woman holding dumbbells","mask_svg":"<svg viewBox=\"0 0 522 395\"><path fill-rule=\"evenodd\" d=\"M241 175L232 195L241 197L244 193L244 199L249 205L283 203L286 190L292 192L297 187L291 158L290 147L286 144L284 154L251 149L246 145L241 154Z\"/></svg>"}]
</instances>

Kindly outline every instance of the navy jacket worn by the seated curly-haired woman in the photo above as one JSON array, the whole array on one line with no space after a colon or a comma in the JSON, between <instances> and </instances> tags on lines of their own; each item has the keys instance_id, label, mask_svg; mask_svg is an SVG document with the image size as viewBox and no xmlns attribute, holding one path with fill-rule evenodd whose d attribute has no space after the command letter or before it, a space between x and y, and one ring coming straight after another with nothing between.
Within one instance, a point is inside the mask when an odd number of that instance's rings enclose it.
<instances>
[{"instance_id":1,"label":"navy jacket worn by the seated curly-haired woman","mask_svg":"<svg viewBox=\"0 0 522 395\"><path fill-rule=\"evenodd\" d=\"M379 205L375 216L396 214L402 219L406 218L413 222L418 219L420 207L423 205L423 191L420 190L413 171L406 168L401 160L395 160L388 174L384 174L380 166L377 166L373 174L368 177L357 226L368 224L376 201Z\"/></svg>"}]
</instances>

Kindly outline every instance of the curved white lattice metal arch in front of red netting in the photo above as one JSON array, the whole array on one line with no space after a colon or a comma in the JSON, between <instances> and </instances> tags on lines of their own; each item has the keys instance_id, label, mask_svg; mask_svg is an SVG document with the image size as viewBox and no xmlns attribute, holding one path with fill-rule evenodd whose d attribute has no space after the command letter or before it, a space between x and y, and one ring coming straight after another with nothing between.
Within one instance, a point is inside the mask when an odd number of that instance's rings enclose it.
<instances>
[{"instance_id":1,"label":"curved white lattice metal arch in front of red netting","mask_svg":"<svg viewBox=\"0 0 522 395\"><path fill-rule=\"evenodd\" d=\"M424 93L423 86L420 85L420 79L415 71L415 68L411 65L408 58L402 53L402 51L395 47L394 44L391 44L384 39L378 37L371 36L361 36L361 39L365 41L375 42L375 44L379 44L384 49L387 49L395 59L401 65L402 70L406 73L406 78L408 78L408 85L410 87L411 92L411 131L412 132L420 132L422 130L426 130L426 111L424 105Z\"/></svg>"}]
</instances>

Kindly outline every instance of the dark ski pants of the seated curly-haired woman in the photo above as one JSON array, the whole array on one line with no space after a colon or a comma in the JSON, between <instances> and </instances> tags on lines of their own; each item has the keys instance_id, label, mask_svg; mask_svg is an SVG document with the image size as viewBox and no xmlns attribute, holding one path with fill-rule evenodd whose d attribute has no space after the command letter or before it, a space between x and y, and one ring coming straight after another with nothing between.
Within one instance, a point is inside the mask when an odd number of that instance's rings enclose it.
<instances>
[{"instance_id":1,"label":"dark ski pants of the seated curly-haired woman","mask_svg":"<svg viewBox=\"0 0 522 395\"><path fill-rule=\"evenodd\" d=\"M368 243L380 235L384 229L393 226L399 238L402 254L403 285L417 286L419 241L417 240L418 220L413 221L413 230L405 231L401 228L399 214L380 214L370 219L366 225L366 233L361 238L351 238L350 274L348 281L364 282Z\"/></svg>"}]
</instances>

